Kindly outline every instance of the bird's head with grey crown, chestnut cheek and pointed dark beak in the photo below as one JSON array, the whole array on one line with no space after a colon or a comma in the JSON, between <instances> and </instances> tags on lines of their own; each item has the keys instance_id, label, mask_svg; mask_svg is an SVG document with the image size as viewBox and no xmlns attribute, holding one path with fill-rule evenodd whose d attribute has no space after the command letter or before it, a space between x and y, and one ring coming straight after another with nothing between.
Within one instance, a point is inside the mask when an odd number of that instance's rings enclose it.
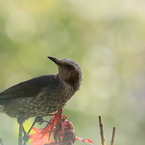
<instances>
[{"instance_id":1,"label":"bird's head with grey crown, chestnut cheek and pointed dark beak","mask_svg":"<svg viewBox=\"0 0 145 145\"><path fill-rule=\"evenodd\" d=\"M51 56L48 58L57 64L59 78L78 90L82 81L82 71L78 63L68 58L57 59Z\"/></svg>"}]
</instances>

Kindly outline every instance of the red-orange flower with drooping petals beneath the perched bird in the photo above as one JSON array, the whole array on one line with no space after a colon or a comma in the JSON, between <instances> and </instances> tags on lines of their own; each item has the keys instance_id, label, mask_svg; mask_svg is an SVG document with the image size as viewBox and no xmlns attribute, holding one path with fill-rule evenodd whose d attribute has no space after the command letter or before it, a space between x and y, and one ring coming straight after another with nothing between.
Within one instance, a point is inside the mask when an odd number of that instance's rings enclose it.
<instances>
[{"instance_id":1,"label":"red-orange flower with drooping petals beneath the perched bird","mask_svg":"<svg viewBox=\"0 0 145 145\"><path fill-rule=\"evenodd\" d=\"M62 109L52 116L44 129L33 128L36 132L30 135L32 145L74 145L76 140L92 144L89 139L76 137L73 124L62 115Z\"/></svg>"}]
</instances>

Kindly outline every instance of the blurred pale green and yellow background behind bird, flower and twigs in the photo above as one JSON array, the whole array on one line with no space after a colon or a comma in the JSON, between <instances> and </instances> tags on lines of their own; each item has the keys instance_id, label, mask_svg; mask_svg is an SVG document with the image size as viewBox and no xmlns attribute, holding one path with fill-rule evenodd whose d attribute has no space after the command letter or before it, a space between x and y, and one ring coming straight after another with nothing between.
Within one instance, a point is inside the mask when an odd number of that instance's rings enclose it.
<instances>
[{"instance_id":1,"label":"blurred pale green and yellow background behind bird, flower and twigs","mask_svg":"<svg viewBox=\"0 0 145 145\"><path fill-rule=\"evenodd\" d=\"M82 68L81 89L64 109L77 136L101 144L101 115L107 144L113 126L115 145L144 144L145 1L1 0L0 91L56 73L47 56L72 58ZM17 134L16 119L1 113L5 145L16 145Z\"/></svg>"}]
</instances>

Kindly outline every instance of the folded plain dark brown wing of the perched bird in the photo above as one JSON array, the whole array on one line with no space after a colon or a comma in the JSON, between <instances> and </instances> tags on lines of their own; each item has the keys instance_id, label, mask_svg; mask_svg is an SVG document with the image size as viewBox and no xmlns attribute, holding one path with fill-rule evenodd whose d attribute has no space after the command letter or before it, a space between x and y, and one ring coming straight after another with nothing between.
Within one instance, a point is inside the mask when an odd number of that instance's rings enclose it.
<instances>
[{"instance_id":1,"label":"folded plain dark brown wing of the perched bird","mask_svg":"<svg viewBox=\"0 0 145 145\"><path fill-rule=\"evenodd\" d=\"M22 97L40 97L50 87L54 88L58 85L56 75L40 76L15 86L8 88L0 93L0 100Z\"/></svg>"}]
</instances>

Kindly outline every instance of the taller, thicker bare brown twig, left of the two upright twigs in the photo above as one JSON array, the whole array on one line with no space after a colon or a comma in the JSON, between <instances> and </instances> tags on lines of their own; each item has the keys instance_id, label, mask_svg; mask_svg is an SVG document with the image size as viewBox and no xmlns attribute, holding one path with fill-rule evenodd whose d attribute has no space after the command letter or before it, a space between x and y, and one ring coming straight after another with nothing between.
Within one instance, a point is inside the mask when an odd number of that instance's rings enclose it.
<instances>
[{"instance_id":1,"label":"taller, thicker bare brown twig, left of the two upright twigs","mask_svg":"<svg viewBox=\"0 0 145 145\"><path fill-rule=\"evenodd\" d=\"M105 142L106 139L104 136L104 124L103 124L101 116L99 116L99 127L100 127L101 143L102 145L106 145L106 142Z\"/></svg>"}]
</instances>

